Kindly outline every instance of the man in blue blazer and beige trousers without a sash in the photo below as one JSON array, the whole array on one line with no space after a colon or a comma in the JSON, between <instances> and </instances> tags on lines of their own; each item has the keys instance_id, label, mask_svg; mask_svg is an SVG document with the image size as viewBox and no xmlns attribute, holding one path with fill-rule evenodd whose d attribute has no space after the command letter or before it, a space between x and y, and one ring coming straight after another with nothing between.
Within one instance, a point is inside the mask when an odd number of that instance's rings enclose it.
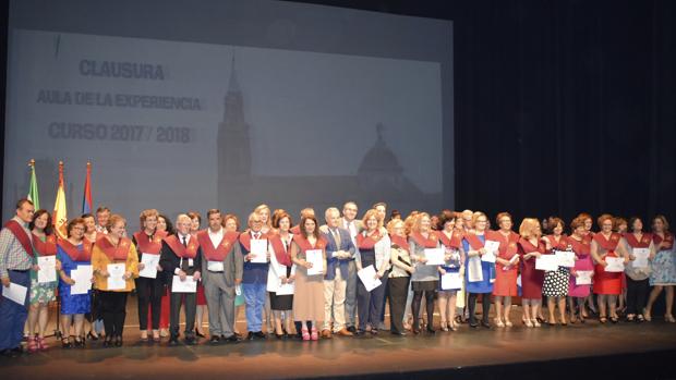
<instances>
[{"instance_id":1,"label":"man in blue blazer and beige trousers without a sash","mask_svg":"<svg viewBox=\"0 0 676 380\"><path fill-rule=\"evenodd\" d=\"M324 328L322 336L331 338L333 332L343 336L352 336L346 328L345 299L349 261L354 257L354 244L350 232L340 226L340 211L330 207L325 212L326 225L321 229L326 240L326 274L324 277Z\"/></svg>"}]
</instances>

